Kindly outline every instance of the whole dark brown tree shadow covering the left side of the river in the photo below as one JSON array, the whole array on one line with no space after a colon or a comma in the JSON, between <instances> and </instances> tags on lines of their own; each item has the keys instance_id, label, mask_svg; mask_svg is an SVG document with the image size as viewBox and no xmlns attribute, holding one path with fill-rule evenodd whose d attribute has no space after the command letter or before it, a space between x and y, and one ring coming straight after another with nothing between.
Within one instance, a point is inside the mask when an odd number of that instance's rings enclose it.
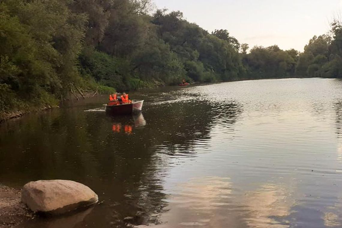
<instances>
[{"instance_id":1,"label":"whole dark brown tree shadow covering the left side of the river","mask_svg":"<svg viewBox=\"0 0 342 228\"><path fill-rule=\"evenodd\" d=\"M92 188L102 202L75 217L34 219L27 227L160 222L168 205L163 181L171 158L209 152L218 117L224 123L221 130L231 131L242 108L234 102L218 106L186 90L177 92L180 99L173 102L167 102L172 94L157 94L159 101L147 98L144 112L137 116L84 112L95 106L83 104L33 113L0 126L1 183L21 187L38 179L71 179Z\"/></svg>"}]
</instances>

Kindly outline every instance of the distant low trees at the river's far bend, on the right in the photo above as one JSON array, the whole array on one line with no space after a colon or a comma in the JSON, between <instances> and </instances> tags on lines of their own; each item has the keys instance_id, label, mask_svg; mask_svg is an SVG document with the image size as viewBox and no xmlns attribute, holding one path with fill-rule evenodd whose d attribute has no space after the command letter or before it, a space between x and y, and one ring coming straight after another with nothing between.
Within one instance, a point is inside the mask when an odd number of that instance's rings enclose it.
<instances>
[{"instance_id":1,"label":"distant low trees at the river's far bend, on the right","mask_svg":"<svg viewBox=\"0 0 342 228\"><path fill-rule=\"evenodd\" d=\"M314 36L304 52L280 50L278 46L255 46L242 50L247 78L322 77L342 78L342 24L331 23L329 33Z\"/></svg>"}]
</instances>

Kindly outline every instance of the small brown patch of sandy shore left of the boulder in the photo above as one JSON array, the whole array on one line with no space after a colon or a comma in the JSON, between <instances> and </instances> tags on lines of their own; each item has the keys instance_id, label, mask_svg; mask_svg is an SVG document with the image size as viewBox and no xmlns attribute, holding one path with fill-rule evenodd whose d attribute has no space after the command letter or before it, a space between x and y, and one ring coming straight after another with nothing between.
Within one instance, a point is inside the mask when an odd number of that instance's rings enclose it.
<instances>
[{"instance_id":1,"label":"small brown patch of sandy shore left of the boulder","mask_svg":"<svg viewBox=\"0 0 342 228\"><path fill-rule=\"evenodd\" d=\"M34 217L20 201L21 190L0 184L0 228L10 228Z\"/></svg>"}]
</instances>

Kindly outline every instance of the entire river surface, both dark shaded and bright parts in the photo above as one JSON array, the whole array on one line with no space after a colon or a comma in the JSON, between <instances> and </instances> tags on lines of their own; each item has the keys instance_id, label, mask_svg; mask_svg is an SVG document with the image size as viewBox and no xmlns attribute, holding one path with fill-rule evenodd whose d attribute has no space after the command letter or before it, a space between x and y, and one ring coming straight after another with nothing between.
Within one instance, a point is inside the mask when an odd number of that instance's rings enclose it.
<instances>
[{"instance_id":1,"label":"entire river surface, both dark shaded and bright parts","mask_svg":"<svg viewBox=\"0 0 342 228\"><path fill-rule=\"evenodd\" d=\"M19 227L342 227L342 81L278 79L97 97L0 125L0 183L71 179L95 207Z\"/></svg>"}]
</instances>

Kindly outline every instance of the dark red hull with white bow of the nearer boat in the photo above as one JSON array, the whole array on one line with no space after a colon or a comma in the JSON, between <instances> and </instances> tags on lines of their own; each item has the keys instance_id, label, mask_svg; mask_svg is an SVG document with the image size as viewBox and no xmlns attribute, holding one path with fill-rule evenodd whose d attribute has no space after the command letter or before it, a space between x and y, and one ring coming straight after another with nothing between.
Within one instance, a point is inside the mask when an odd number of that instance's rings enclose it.
<instances>
[{"instance_id":1,"label":"dark red hull with white bow of the nearer boat","mask_svg":"<svg viewBox=\"0 0 342 228\"><path fill-rule=\"evenodd\" d=\"M132 103L121 105L106 105L106 113L110 115L129 115L133 112L140 112L143 108L144 100L132 100Z\"/></svg>"}]
</instances>

